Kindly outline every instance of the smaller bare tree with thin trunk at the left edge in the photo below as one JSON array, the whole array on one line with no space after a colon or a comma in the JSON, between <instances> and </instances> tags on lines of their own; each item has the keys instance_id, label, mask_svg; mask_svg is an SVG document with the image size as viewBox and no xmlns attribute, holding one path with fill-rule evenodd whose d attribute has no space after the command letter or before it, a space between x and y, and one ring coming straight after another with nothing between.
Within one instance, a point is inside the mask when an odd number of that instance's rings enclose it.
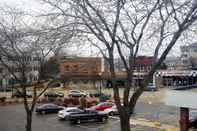
<instances>
[{"instance_id":1,"label":"smaller bare tree with thin trunk at the left edge","mask_svg":"<svg viewBox=\"0 0 197 131\"><path fill-rule=\"evenodd\" d=\"M24 12L10 8L9 11L3 13L4 15L0 18L0 64L10 74L9 78L15 82L15 85L18 84L19 87L15 87L15 89L23 94L26 131L31 131L35 105L48 88L42 82L45 79L43 74L46 59L59 48L57 45L59 41L62 45L64 42L66 43L65 38L62 39L65 35L59 33L57 29L41 28L43 26L38 26L39 24L36 27L28 25L26 19L29 16ZM35 23L33 24L35 25ZM38 91L40 85L44 88ZM27 98L29 89L33 90L32 99Z\"/></svg>"}]
</instances>

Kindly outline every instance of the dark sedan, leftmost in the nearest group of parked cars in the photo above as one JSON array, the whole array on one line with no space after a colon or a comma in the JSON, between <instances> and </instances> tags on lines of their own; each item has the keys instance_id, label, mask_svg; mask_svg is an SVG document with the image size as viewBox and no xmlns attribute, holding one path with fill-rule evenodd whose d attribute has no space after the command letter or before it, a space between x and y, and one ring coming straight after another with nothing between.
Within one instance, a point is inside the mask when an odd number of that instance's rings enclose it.
<instances>
[{"instance_id":1,"label":"dark sedan, leftmost in the nearest group of parked cars","mask_svg":"<svg viewBox=\"0 0 197 131\"><path fill-rule=\"evenodd\" d=\"M60 110L65 109L62 106L58 106L55 104L43 104L36 108L36 112L40 114L46 114L46 113L57 113Z\"/></svg>"}]
</instances>

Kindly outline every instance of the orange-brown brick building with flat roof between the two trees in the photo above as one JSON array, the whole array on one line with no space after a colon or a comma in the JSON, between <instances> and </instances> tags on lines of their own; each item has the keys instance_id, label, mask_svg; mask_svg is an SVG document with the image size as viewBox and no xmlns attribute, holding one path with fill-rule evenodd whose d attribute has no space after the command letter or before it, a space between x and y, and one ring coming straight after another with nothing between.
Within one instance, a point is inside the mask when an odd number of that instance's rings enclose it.
<instances>
[{"instance_id":1,"label":"orange-brown brick building with flat roof between the two trees","mask_svg":"<svg viewBox=\"0 0 197 131\"><path fill-rule=\"evenodd\" d=\"M99 57L62 58L59 61L61 79L74 83L97 83L101 81L102 59Z\"/></svg>"}]
</instances>

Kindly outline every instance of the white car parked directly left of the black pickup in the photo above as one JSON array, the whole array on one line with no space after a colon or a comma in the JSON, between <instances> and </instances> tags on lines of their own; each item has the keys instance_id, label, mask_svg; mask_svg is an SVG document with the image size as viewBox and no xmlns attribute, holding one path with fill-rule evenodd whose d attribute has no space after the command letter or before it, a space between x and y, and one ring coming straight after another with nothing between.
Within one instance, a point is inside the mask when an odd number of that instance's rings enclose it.
<instances>
[{"instance_id":1,"label":"white car parked directly left of the black pickup","mask_svg":"<svg viewBox=\"0 0 197 131\"><path fill-rule=\"evenodd\" d=\"M71 114L81 113L83 110L79 109L78 107L67 107L64 110L58 112L58 117L60 119L68 120Z\"/></svg>"}]
</instances>

